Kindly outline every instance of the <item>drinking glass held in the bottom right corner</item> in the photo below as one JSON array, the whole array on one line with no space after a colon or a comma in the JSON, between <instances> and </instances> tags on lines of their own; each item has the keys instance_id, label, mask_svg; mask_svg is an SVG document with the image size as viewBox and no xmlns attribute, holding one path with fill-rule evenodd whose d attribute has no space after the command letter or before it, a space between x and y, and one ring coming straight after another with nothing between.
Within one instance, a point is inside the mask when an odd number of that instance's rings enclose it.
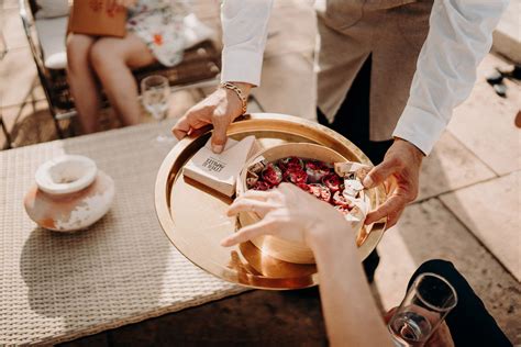
<instances>
[{"instance_id":1,"label":"drinking glass held in the bottom right corner","mask_svg":"<svg viewBox=\"0 0 521 347\"><path fill-rule=\"evenodd\" d=\"M456 304L456 291L447 280L420 275L387 325L395 346L423 346Z\"/></svg>"}]
</instances>

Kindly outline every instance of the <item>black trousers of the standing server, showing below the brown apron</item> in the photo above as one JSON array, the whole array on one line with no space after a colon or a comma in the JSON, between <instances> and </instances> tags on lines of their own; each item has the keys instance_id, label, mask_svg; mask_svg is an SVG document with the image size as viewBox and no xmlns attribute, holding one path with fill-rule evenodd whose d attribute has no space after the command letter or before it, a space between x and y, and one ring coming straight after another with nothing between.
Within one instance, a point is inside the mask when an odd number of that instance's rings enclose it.
<instances>
[{"instance_id":1,"label":"black trousers of the standing server, showing below the brown apron","mask_svg":"<svg viewBox=\"0 0 521 347\"><path fill-rule=\"evenodd\" d=\"M345 136L361 148L374 165L378 165L392 144L392 139L383 142L369 139L370 65L369 56L353 81L333 123L329 123L320 109L317 109L317 117L320 124ZM369 282L373 282L379 261L380 257L376 249L364 260L364 270Z\"/></svg>"}]
</instances>

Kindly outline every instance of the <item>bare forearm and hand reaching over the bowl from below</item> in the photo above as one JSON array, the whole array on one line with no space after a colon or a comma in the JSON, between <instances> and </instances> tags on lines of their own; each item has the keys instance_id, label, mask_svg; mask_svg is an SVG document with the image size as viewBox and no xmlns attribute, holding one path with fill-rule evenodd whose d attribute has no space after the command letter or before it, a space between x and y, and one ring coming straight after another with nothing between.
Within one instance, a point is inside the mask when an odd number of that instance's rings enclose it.
<instances>
[{"instance_id":1,"label":"bare forearm and hand reaching over the bowl from below","mask_svg":"<svg viewBox=\"0 0 521 347\"><path fill-rule=\"evenodd\" d=\"M229 215L246 211L262 220L223 239L223 246L260 235L304 242L319 268L330 344L392 346L356 251L355 231L362 222L347 222L333 206L290 183L268 191L246 191L235 199Z\"/></svg>"}]
</instances>

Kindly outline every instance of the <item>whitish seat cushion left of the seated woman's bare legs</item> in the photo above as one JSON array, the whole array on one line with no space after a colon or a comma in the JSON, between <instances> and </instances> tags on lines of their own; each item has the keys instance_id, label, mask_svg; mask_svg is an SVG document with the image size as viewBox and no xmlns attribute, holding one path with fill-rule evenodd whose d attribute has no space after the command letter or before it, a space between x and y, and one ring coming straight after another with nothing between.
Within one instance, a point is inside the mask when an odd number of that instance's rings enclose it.
<instances>
[{"instance_id":1,"label":"whitish seat cushion left of the seated woman's bare legs","mask_svg":"<svg viewBox=\"0 0 521 347\"><path fill-rule=\"evenodd\" d=\"M36 19L36 32L42 46L44 65L48 69L64 69L67 66L65 36L68 16Z\"/></svg>"}]
</instances>

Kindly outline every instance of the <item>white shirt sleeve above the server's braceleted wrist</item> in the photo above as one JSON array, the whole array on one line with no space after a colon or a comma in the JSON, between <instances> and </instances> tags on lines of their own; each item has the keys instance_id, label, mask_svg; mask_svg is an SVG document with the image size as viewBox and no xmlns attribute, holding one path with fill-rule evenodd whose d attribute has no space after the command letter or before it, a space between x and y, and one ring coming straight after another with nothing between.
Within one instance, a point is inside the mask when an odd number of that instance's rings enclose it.
<instances>
[{"instance_id":1,"label":"white shirt sleeve above the server's braceleted wrist","mask_svg":"<svg viewBox=\"0 0 521 347\"><path fill-rule=\"evenodd\" d=\"M222 81L260 83L273 0L224 0Z\"/></svg>"}]
</instances>

